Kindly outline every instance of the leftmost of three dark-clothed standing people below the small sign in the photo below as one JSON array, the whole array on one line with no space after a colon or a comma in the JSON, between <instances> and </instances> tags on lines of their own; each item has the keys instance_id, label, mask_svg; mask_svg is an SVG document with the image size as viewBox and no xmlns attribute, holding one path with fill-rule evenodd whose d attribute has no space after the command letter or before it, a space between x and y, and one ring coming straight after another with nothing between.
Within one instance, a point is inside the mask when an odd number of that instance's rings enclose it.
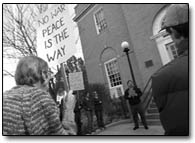
<instances>
[{"instance_id":1,"label":"leftmost of three dark-clothed standing people below the small sign","mask_svg":"<svg viewBox=\"0 0 195 143\"><path fill-rule=\"evenodd\" d=\"M74 108L75 122L77 124L77 135L82 135L81 110L82 110L82 103L77 98L75 108Z\"/></svg>"}]
</instances>

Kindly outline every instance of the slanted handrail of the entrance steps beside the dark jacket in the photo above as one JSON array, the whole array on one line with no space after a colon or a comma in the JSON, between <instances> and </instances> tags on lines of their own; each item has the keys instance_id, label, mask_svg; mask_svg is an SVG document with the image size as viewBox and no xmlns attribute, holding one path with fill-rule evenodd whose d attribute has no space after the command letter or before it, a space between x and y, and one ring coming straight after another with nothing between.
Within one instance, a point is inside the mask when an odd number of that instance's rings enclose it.
<instances>
[{"instance_id":1,"label":"slanted handrail of the entrance steps beside the dark jacket","mask_svg":"<svg viewBox=\"0 0 195 143\"><path fill-rule=\"evenodd\" d=\"M142 105L144 108L144 111L148 109L148 106L152 100L152 78L150 77L148 82L146 83L146 86L143 89L143 95L142 95Z\"/></svg>"}]
</instances>

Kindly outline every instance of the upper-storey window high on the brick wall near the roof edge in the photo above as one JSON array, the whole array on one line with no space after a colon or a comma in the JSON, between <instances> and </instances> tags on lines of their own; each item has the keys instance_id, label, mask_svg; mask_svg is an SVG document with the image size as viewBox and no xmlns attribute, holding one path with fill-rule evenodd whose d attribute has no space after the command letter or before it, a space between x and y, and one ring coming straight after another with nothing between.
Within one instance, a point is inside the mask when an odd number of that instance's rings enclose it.
<instances>
[{"instance_id":1,"label":"upper-storey window high on the brick wall near the roof edge","mask_svg":"<svg viewBox=\"0 0 195 143\"><path fill-rule=\"evenodd\" d=\"M96 25L97 34L100 34L107 28L106 19L104 17L104 11L103 8L100 8L95 14L94 14L94 20Z\"/></svg>"}]
</instances>

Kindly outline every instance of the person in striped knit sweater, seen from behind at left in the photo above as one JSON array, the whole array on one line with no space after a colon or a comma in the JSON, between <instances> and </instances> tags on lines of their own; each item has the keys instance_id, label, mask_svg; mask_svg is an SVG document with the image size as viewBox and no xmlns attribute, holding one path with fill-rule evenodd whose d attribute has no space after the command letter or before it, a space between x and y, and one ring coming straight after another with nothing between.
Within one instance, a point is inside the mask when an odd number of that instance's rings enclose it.
<instances>
[{"instance_id":1,"label":"person in striped knit sweater, seen from behind at left","mask_svg":"<svg viewBox=\"0 0 195 143\"><path fill-rule=\"evenodd\" d=\"M49 79L48 65L41 58L27 56L19 61L17 86L3 94L3 135L75 134L59 119L59 109L47 92Z\"/></svg>"}]
</instances>

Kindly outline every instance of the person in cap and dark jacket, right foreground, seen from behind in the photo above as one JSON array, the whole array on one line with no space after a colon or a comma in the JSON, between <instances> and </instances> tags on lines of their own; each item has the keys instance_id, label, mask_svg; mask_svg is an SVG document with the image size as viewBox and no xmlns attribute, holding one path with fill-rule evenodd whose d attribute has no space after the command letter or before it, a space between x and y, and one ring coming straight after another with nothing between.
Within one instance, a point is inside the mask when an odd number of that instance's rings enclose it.
<instances>
[{"instance_id":1,"label":"person in cap and dark jacket, right foreground, seen from behind","mask_svg":"<svg viewBox=\"0 0 195 143\"><path fill-rule=\"evenodd\" d=\"M188 12L187 4L172 4L162 22L179 55L152 76L153 97L165 135L189 135Z\"/></svg>"}]
</instances>

